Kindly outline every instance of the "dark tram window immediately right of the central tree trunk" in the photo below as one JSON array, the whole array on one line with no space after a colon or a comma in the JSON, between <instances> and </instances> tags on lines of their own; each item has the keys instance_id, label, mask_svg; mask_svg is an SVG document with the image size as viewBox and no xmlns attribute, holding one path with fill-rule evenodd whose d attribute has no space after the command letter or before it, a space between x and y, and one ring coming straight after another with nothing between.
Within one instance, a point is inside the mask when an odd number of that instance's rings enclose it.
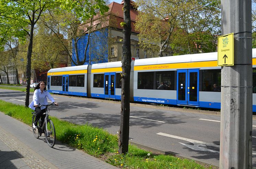
<instances>
[{"instance_id":1,"label":"dark tram window immediately right of the central tree trunk","mask_svg":"<svg viewBox=\"0 0 256 169\"><path fill-rule=\"evenodd\" d=\"M138 89L153 89L154 88L154 72L139 72L138 73Z\"/></svg>"}]
</instances>

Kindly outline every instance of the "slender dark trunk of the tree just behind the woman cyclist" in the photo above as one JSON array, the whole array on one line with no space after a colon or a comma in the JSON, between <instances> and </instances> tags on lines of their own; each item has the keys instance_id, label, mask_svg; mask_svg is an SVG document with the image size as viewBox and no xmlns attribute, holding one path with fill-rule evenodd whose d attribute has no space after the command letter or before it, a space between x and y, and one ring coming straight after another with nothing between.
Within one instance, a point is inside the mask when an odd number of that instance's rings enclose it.
<instances>
[{"instance_id":1,"label":"slender dark trunk of the tree just behind the woman cyclist","mask_svg":"<svg viewBox=\"0 0 256 169\"><path fill-rule=\"evenodd\" d=\"M27 49L27 70L26 70L26 99L25 106L29 105L29 94L30 94L30 80L31 80L31 56L32 56L32 48L33 48L33 36L34 36L34 24L31 24L30 29L30 41Z\"/></svg>"}]
</instances>

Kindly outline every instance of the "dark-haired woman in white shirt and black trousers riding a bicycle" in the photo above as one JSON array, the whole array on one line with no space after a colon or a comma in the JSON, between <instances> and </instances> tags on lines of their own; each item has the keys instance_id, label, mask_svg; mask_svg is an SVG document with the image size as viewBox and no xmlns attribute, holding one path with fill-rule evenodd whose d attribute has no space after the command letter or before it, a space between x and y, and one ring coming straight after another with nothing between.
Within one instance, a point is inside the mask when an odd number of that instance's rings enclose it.
<instances>
[{"instance_id":1,"label":"dark-haired woman in white shirt and black trousers riding a bicycle","mask_svg":"<svg viewBox=\"0 0 256 169\"><path fill-rule=\"evenodd\" d=\"M46 112L45 106L37 107L39 104L47 105L47 98L53 102L55 105L58 105L58 103L55 103L54 98L50 95L50 93L46 90L45 83L43 81L40 81L34 90L33 95L33 101L30 103L28 107L36 111L36 117L33 123L33 128L36 128L37 121L41 118L41 122L43 124L45 115L43 115ZM42 125L41 124L41 125Z\"/></svg>"}]
</instances>

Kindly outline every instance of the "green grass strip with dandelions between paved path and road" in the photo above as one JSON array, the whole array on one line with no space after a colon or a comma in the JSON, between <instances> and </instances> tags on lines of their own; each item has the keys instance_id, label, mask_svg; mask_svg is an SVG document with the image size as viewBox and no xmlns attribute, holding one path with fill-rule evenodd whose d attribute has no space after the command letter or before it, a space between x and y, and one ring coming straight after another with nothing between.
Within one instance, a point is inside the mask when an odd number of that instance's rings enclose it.
<instances>
[{"instance_id":1,"label":"green grass strip with dandelions between paved path and road","mask_svg":"<svg viewBox=\"0 0 256 169\"><path fill-rule=\"evenodd\" d=\"M31 126L31 109L0 100L0 111ZM86 153L105 160L119 168L132 169L213 169L210 165L200 165L194 160L181 159L171 155L161 155L129 145L129 152L118 154L117 136L91 125L75 125L51 117L56 129L56 138ZM31 133L32 134L32 133ZM33 134L31 135L31 137ZM42 142L42 144L44 144Z\"/></svg>"}]
</instances>

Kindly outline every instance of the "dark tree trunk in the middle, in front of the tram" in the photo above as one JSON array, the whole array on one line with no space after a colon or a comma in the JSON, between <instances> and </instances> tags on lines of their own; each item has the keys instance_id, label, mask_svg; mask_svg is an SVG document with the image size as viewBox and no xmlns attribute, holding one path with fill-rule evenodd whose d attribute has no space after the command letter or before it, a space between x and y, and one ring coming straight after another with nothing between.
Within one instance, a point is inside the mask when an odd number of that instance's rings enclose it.
<instances>
[{"instance_id":1,"label":"dark tree trunk in the middle, in front of the tram","mask_svg":"<svg viewBox=\"0 0 256 169\"><path fill-rule=\"evenodd\" d=\"M129 144L130 71L131 71L131 18L130 0L124 0L124 28L122 53L121 117L118 133L118 152L126 154Z\"/></svg>"}]
</instances>

